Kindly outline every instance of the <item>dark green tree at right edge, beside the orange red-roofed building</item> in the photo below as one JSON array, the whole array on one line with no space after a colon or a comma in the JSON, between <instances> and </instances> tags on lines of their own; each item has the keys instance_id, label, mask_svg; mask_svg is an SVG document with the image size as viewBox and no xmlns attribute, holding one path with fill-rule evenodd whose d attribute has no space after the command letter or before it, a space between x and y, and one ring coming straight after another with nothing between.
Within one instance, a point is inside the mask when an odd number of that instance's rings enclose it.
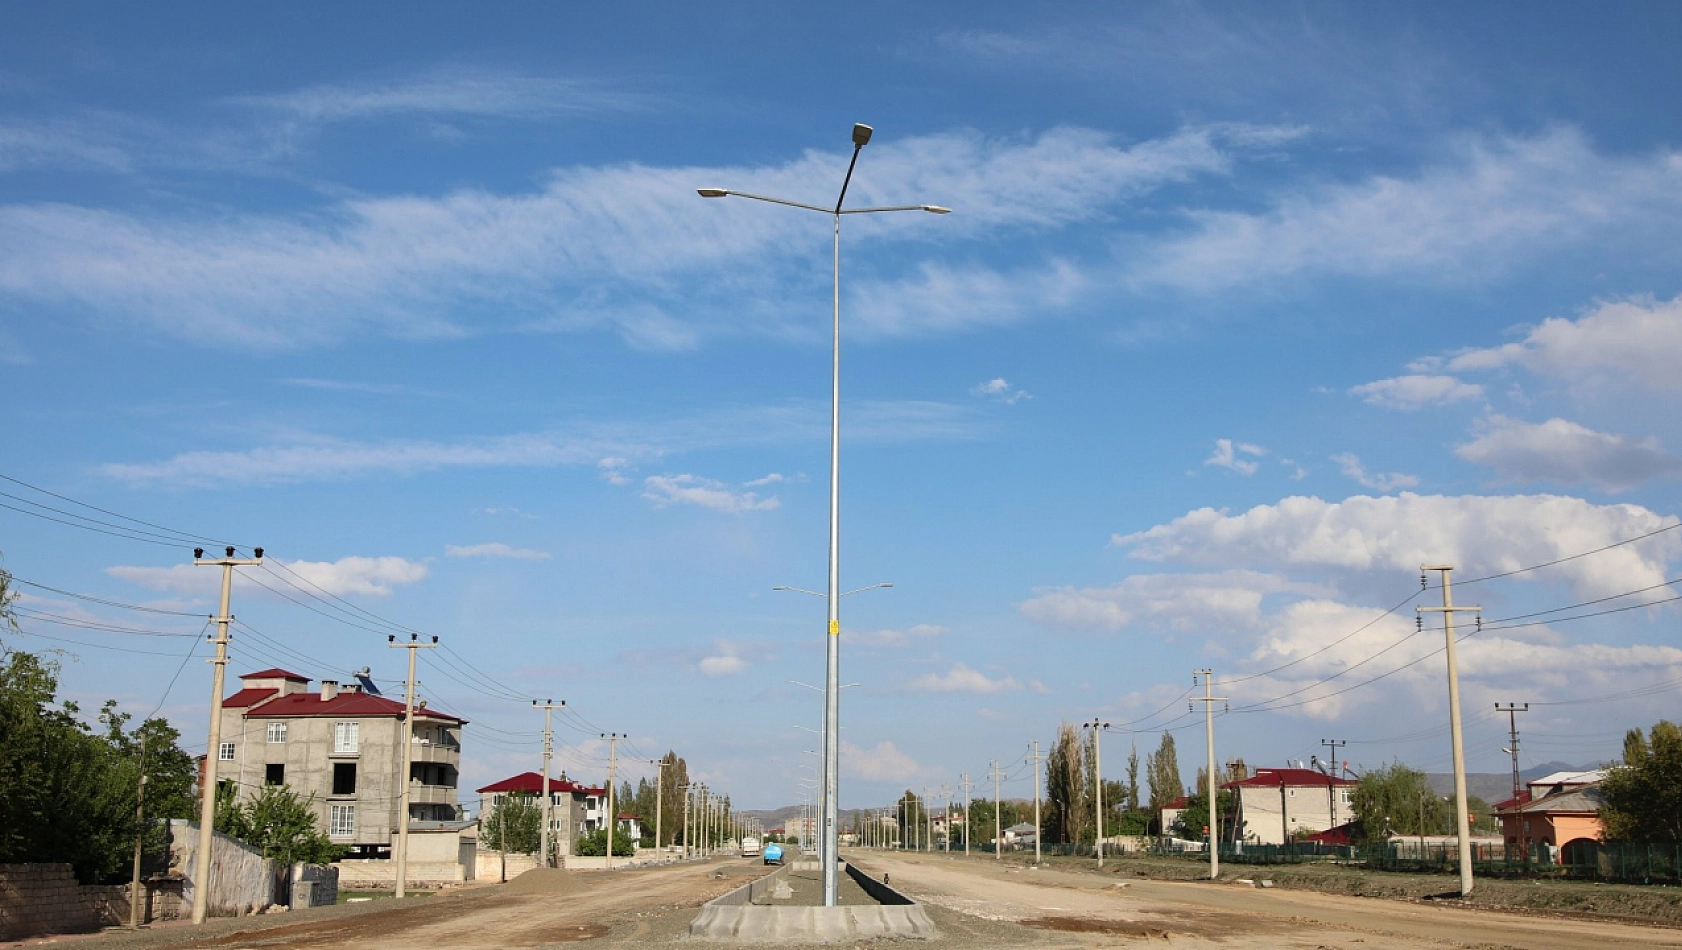
<instances>
[{"instance_id":1,"label":"dark green tree at right edge, beside the orange red-roofed building","mask_svg":"<svg viewBox=\"0 0 1682 950\"><path fill-rule=\"evenodd\" d=\"M1643 736L1630 730L1623 763L1600 785L1606 841L1682 842L1682 728L1662 720Z\"/></svg>"}]
</instances>

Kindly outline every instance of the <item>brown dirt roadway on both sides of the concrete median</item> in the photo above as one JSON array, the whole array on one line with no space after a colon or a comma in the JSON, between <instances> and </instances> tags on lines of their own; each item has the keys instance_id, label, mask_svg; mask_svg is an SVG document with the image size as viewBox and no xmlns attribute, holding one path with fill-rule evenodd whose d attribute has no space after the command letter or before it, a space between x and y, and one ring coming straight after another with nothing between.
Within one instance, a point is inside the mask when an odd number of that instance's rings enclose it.
<instances>
[{"instance_id":1,"label":"brown dirt roadway on both sides of the concrete median","mask_svg":"<svg viewBox=\"0 0 1682 950\"><path fill-rule=\"evenodd\" d=\"M854 861L875 876L888 874L897 889L928 906L942 932L937 945L964 950L1682 950L1679 928L1536 911L1519 915L1231 883L1124 881L1108 873L1029 869L986 858L861 852ZM696 908L765 871L747 859L611 873L533 871L508 884L415 901L368 901L219 920L204 928L160 926L72 938L66 950L705 950L711 943L688 937Z\"/></svg>"}]
</instances>

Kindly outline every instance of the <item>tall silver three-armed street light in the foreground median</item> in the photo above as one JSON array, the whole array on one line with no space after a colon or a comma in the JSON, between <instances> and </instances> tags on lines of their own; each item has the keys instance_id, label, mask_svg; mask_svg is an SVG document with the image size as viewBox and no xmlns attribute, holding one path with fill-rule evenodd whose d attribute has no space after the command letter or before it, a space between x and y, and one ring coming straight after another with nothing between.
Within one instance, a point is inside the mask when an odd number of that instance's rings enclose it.
<instances>
[{"instance_id":1,"label":"tall silver three-armed street light in the foreground median","mask_svg":"<svg viewBox=\"0 0 1682 950\"><path fill-rule=\"evenodd\" d=\"M772 198L765 195L750 195L747 192L732 192L728 188L700 188L703 198L725 198L740 197L754 198L759 202L770 202L774 205L787 205L794 208L804 208L811 212L819 212L831 215L834 219L834 346L831 358L831 400L829 400L829 657L828 657L828 688L824 691L824 795L822 795L822 868L824 868L824 906L836 906L836 858L839 844L838 824L836 824L836 787L839 775L839 725L841 725L841 215L844 214L880 214L880 212L930 212L930 214L950 214L950 208L940 205L897 205L897 207L873 207L873 208L843 208L846 202L846 188L853 182L853 168L858 166L858 153L870 141L871 128L866 124L853 126L853 158L848 161L846 177L841 180L841 195L836 197L833 208L807 205L804 202L791 202L787 198Z\"/></svg>"}]
</instances>

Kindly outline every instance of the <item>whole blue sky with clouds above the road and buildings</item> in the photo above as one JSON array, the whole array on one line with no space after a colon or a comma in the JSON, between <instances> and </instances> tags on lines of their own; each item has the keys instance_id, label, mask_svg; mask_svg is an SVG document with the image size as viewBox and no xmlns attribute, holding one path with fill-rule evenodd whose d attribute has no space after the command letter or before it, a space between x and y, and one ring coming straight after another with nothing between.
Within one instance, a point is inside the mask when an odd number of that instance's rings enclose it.
<instances>
[{"instance_id":1,"label":"whole blue sky with clouds above the road and buildings","mask_svg":"<svg viewBox=\"0 0 1682 950\"><path fill-rule=\"evenodd\" d=\"M787 681L821 681L824 617L770 588L824 577L829 232L695 188L833 200L865 121L853 197L954 214L844 232L843 583L895 583L843 610L844 805L1009 768L1060 720L1152 748L1204 666L1235 708L1221 758L1344 738L1447 768L1441 637L1408 637L1436 592L1383 615L1418 565L1660 531L1462 592L1492 620L1613 599L1462 646L1473 768L1505 768L1497 701L1536 705L1527 763L1610 758L1682 678L1672 605L1571 619L1670 597L1682 558L1679 20L22 10L0 472L262 545L441 636L424 694L474 721L466 787L535 767L520 698L565 698L575 777L621 731L792 802L821 708ZM0 509L0 553L214 607L180 545ZM281 577L256 580L335 612ZM136 713L190 639L54 619L198 627L22 592L25 631L62 639L15 641ZM378 632L262 587L235 614L259 634L234 673L400 676ZM188 742L207 693L190 662L165 699Z\"/></svg>"}]
</instances>

